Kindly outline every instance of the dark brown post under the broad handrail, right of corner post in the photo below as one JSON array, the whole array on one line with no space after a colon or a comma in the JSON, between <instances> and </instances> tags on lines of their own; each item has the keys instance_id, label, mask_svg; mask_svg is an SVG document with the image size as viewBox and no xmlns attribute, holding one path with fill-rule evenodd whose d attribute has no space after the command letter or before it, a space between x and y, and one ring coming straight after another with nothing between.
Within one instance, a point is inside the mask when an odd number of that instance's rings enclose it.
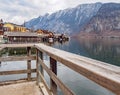
<instances>
[{"instance_id":1,"label":"dark brown post under the broad handrail, right of corner post","mask_svg":"<svg viewBox=\"0 0 120 95\"><path fill-rule=\"evenodd\" d=\"M57 75L57 61L51 57L50 57L50 69L52 70L53 73ZM52 79L50 79L50 88L51 91L53 92L53 95L57 95L57 85Z\"/></svg>"}]
</instances>

